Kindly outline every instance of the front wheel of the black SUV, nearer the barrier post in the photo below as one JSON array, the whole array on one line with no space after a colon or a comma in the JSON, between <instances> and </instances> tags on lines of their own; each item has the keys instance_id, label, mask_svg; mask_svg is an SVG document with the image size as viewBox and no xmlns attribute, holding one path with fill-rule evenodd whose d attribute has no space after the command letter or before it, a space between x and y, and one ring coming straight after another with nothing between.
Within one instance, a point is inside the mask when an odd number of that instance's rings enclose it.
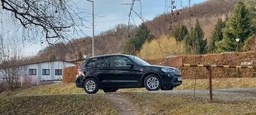
<instances>
[{"instance_id":1,"label":"front wheel of the black SUV, nearer the barrier post","mask_svg":"<svg viewBox=\"0 0 256 115\"><path fill-rule=\"evenodd\" d=\"M148 91L157 91L161 87L161 80L157 75L150 74L145 78L144 86Z\"/></svg>"}]
</instances>

